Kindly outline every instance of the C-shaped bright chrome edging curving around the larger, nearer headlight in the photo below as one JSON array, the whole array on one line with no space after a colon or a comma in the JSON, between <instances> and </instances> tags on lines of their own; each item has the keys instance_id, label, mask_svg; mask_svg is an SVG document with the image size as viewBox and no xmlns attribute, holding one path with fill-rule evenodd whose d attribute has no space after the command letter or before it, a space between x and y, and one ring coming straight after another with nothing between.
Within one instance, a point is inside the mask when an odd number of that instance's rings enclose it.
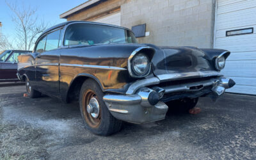
<instances>
[{"instance_id":1,"label":"C-shaped bright chrome edging curving around the larger, nearer headlight","mask_svg":"<svg viewBox=\"0 0 256 160\"><path fill-rule=\"evenodd\" d=\"M134 75L134 73L132 72L132 64L131 64L131 61L132 61L132 58L138 53L140 52L142 49L152 49L154 50L152 47L139 47L138 49L135 49L131 56L129 56L128 58L128 72L129 74L132 76L132 77L145 77L145 76L148 76L148 74L150 73L151 71L151 62L150 62L150 66L149 66L149 69L148 69L148 72L145 74L145 75L142 75L142 76L136 76Z\"/></svg>"}]
</instances>

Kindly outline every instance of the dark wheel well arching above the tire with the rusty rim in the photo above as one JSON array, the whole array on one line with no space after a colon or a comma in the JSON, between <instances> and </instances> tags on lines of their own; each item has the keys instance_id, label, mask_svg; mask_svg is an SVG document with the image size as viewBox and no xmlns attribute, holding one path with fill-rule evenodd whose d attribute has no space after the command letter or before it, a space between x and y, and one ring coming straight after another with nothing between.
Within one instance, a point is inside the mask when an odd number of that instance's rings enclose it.
<instances>
[{"instance_id":1,"label":"dark wheel well arching above the tire with the rusty rim","mask_svg":"<svg viewBox=\"0 0 256 160\"><path fill-rule=\"evenodd\" d=\"M91 77L86 77L86 76L79 76L76 79L74 79L74 81L72 82L71 86L68 89L67 102L79 101L81 87L84 81L86 81L87 79L92 79L93 81L95 81L95 79Z\"/></svg>"}]
</instances>

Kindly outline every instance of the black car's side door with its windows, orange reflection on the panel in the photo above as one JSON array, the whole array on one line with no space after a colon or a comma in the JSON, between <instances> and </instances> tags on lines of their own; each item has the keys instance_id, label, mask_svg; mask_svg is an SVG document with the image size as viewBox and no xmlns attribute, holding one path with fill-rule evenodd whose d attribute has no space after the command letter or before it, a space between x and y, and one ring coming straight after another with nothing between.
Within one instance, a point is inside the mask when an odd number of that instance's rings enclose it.
<instances>
[{"instance_id":1,"label":"black car's side door with its windows, orange reflection on the panel","mask_svg":"<svg viewBox=\"0 0 256 160\"><path fill-rule=\"evenodd\" d=\"M38 42L36 47L36 85L38 90L48 95L60 97L59 90L59 63L61 30L48 33ZM45 45L44 45L45 44Z\"/></svg>"}]
</instances>

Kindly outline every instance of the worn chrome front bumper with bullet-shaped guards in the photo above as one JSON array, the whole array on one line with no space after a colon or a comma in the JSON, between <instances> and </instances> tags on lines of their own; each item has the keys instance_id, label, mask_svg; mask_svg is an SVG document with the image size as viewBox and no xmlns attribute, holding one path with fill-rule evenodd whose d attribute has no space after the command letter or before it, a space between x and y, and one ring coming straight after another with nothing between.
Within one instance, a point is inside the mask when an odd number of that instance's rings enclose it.
<instances>
[{"instance_id":1,"label":"worn chrome front bumper with bullet-shaped guards","mask_svg":"<svg viewBox=\"0 0 256 160\"><path fill-rule=\"evenodd\" d=\"M232 79L218 77L207 81L178 84L163 88L158 86L152 88L145 87L145 84L152 86L153 82L156 81L155 78L147 79L145 83L143 81L135 82L134 84L136 85L131 85L132 89L129 88L129 93L132 94L105 95L103 99L111 114L119 120L135 124L154 122L164 119L168 111L168 106L160 101L164 94L200 93L207 87L210 88L210 92L207 95L212 97L212 99L217 99L223 95L227 88L231 88L236 84ZM202 94L199 95L202 96Z\"/></svg>"}]
</instances>

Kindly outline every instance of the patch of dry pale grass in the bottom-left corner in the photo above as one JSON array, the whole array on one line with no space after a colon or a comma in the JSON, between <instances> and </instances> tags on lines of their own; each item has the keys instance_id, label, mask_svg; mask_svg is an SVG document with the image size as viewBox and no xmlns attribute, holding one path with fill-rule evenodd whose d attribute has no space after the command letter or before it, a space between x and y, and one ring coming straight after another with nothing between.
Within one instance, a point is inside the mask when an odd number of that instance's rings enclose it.
<instances>
[{"instance_id":1,"label":"patch of dry pale grass in the bottom-left corner","mask_svg":"<svg viewBox=\"0 0 256 160\"><path fill-rule=\"evenodd\" d=\"M26 124L0 124L0 159L47 159L43 134Z\"/></svg>"}]
</instances>

